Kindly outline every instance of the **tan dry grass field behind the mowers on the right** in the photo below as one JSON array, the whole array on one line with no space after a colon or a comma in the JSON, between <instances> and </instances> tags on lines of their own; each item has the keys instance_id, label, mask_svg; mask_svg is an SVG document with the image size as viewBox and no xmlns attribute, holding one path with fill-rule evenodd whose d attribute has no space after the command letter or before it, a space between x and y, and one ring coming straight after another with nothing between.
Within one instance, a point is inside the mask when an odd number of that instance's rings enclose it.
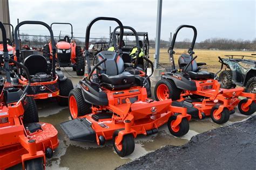
<instances>
[{"instance_id":1,"label":"tan dry grass field behind the mowers on the right","mask_svg":"<svg viewBox=\"0 0 256 170\"><path fill-rule=\"evenodd\" d=\"M181 54L187 53L187 49L176 49L174 50L176 54L174 54L174 60L176 65L178 64L178 58ZM153 55L154 55L155 50L150 49L150 59L153 61ZM243 52L243 51L212 51L212 50L200 50L200 49L195 49L194 50L194 56L198 56L196 59L197 62L206 62L207 66L202 67L204 69L208 69L210 72L217 72L220 68L220 63L218 62L218 56L221 56L221 58L224 58L224 55L251 55L252 53L256 52ZM252 58L245 58L245 59L252 59ZM255 58L256 59L256 58ZM254 59L254 60L255 60ZM160 49L160 58L159 58L159 63L164 64L165 66L167 63L169 63L169 54L167 53L167 49Z\"/></svg>"}]
</instances>

